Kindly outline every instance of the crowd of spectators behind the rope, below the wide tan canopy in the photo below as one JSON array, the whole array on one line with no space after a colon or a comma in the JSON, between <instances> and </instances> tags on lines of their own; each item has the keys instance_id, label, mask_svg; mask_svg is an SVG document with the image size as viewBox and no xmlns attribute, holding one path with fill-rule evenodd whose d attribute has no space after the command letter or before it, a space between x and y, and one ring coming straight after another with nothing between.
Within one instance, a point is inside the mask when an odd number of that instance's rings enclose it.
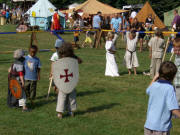
<instances>
[{"instance_id":1,"label":"crowd of spectators behind the rope, below the wide tan canopy","mask_svg":"<svg viewBox=\"0 0 180 135\"><path fill-rule=\"evenodd\" d=\"M133 13L133 12L132 12ZM74 14L77 14L76 12ZM124 31L152 31L152 26L154 24L155 17L152 16L152 14L149 14L149 16L146 18L145 22L139 22L138 19L131 15L130 13L119 13L114 14L113 16L102 16L101 12L98 12L94 16L85 17L82 19L80 15L72 15L72 18L74 19L74 22L72 24L72 27L76 29L79 27L86 28L86 29L96 29L96 32L88 32L88 38L89 35L94 35L94 43L92 44L90 42L91 47L97 47L97 44L99 41L97 41L97 38L99 37L101 29L106 30L112 30L114 32L114 39L113 42L116 42L119 35L122 35L122 38L126 40L126 34ZM75 17L74 17L75 16ZM134 18L132 18L132 16ZM156 28L155 28L156 29ZM102 32L102 38L104 42L106 41L107 33ZM151 34L145 34L140 33L138 36L138 42L140 43L139 51L142 52L143 50L143 44L144 41L146 41L146 46L148 45L148 41L150 40ZM87 42L87 40L85 40ZM101 40L100 40L101 44ZM84 45L83 45L84 46Z\"/></svg>"}]
</instances>

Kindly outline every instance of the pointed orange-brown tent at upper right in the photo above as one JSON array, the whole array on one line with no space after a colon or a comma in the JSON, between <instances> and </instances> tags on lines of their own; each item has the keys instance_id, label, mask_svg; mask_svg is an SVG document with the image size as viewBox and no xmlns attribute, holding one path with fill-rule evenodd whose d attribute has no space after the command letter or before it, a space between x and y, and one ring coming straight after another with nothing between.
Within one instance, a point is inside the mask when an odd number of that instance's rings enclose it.
<instances>
[{"instance_id":1,"label":"pointed orange-brown tent at upper right","mask_svg":"<svg viewBox=\"0 0 180 135\"><path fill-rule=\"evenodd\" d=\"M160 29L163 29L163 28L166 27L164 25L164 23L156 15L156 13L152 9L152 7L151 7L151 5L149 4L148 1L145 3L144 7L139 11L139 13L137 14L136 18L138 19L139 22L145 22L146 18L150 14L152 15L153 18L155 18L155 20L154 20L154 27L158 27Z\"/></svg>"}]
</instances>

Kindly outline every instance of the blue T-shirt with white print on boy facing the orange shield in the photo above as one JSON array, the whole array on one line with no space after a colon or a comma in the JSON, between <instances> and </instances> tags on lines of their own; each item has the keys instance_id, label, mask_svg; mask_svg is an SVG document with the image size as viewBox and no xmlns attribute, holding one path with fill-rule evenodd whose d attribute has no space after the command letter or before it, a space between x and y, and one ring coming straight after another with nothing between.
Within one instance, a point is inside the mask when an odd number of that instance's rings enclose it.
<instances>
[{"instance_id":1,"label":"blue T-shirt with white print on boy facing the orange shield","mask_svg":"<svg viewBox=\"0 0 180 135\"><path fill-rule=\"evenodd\" d=\"M37 81L38 79L38 68L41 68L41 62L37 57L31 57L30 55L25 57L24 61L25 68L25 80Z\"/></svg>"}]
</instances>

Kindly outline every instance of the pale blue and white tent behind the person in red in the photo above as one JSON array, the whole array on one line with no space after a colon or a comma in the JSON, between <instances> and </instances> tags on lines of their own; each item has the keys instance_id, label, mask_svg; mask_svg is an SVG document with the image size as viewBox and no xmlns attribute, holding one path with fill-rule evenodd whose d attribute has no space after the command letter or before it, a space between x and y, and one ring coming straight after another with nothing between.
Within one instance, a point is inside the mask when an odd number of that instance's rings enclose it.
<instances>
[{"instance_id":1,"label":"pale blue and white tent behind the person in red","mask_svg":"<svg viewBox=\"0 0 180 135\"><path fill-rule=\"evenodd\" d=\"M38 25L47 30L56 7L48 0L38 0L27 12L30 16L31 26ZM61 17L61 25L65 27L65 15L58 12Z\"/></svg>"}]
</instances>

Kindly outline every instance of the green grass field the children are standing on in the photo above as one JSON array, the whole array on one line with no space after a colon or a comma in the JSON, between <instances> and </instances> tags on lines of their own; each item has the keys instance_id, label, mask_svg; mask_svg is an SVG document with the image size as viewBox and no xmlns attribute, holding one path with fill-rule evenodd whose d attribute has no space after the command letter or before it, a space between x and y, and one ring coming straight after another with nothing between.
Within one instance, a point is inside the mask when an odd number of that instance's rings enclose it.
<instances>
[{"instance_id":1,"label":"green grass field the children are standing on","mask_svg":"<svg viewBox=\"0 0 180 135\"><path fill-rule=\"evenodd\" d=\"M12 25L1 26L0 31L15 31ZM62 35L72 41L72 33ZM37 34L40 49L52 49L56 37L50 33ZM81 34L81 43L84 34ZM78 110L74 118L56 117L56 97L53 91L46 100L49 85L50 57L53 52L38 53L42 62L41 80L38 82L37 99L32 112L22 113L6 105L7 69L12 54L0 54L0 135L143 135L148 97L145 90L150 78L143 76L148 71L148 52L138 53L138 75L127 75L123 66L124 43L118 41L117 63L120 77L105 77L105 50L82 48L76 54L83 59L80 80L77 86ZM0 35L0 52L27 49L30 34ZM29 105L29 104L28 104ZM180 134L180 120L173 119L172 135Z\"/></svg>"}]
</instances>

